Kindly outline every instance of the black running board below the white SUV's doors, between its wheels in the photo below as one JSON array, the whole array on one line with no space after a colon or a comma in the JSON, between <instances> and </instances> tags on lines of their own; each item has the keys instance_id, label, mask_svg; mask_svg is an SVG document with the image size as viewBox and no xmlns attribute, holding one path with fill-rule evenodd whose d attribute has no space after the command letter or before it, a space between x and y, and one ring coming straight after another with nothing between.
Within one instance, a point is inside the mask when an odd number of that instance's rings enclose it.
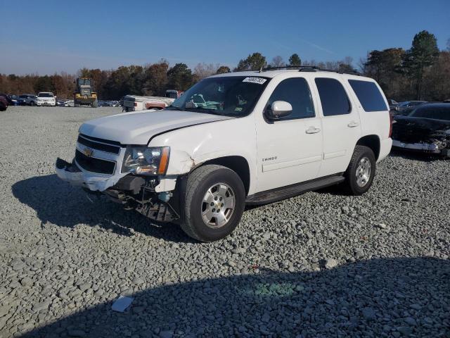
<instances>
[{"instance_id":1,"label":"black running board below the white SUV's doors, between its wheels","mask_svg":"<svg viewBox=\"0 0 450 338\"><path fill-rule=\"evenodd\" d=\"M329 187L330 185L338 184L344 180L345 177L342 175L332 175L321 177L316 180L288 185L287 187L267 190L266 192L258 192L257 194L247 196L245 204L269 204L283 199L289 199L290 197L304 194L305 192Z\"/></svg>"}]
</instances>

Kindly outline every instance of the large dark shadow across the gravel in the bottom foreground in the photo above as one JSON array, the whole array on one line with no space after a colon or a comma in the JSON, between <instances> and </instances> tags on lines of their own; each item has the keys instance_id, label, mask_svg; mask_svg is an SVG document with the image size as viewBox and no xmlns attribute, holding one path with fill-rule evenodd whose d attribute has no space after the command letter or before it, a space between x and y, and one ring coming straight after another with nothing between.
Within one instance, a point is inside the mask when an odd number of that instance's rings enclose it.
<instances>
[{"instance_id":1,"label":"large dark shadow across the gravel in the bottom foreground","mask_svg":"<svg viewBox=\"0 0 450 338\"><path fill-rule=\"evenodd\" d=\"M126 313L102 303L22 337L449 337L449 279L436 258L262 270L147 289Z\"/></svg>"}]
</instances>

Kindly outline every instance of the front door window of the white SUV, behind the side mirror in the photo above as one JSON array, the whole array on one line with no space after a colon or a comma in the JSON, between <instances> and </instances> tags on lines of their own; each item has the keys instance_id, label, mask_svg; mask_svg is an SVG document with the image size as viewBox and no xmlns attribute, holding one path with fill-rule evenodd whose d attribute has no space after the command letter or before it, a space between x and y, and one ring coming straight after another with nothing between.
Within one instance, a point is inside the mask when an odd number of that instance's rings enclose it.
<instances>
[{"instance_id":1,"label":"front door window of the white SUV, behind the side mirror","mask_svg":"<svg viewBox=\"0 0 450 338\"><path fill-rule=\"evenodd\" d=\"M315 116L311 92L307 81L302 77L292 77L281 81L271 94L267 106L275 101L286 101L293 106L293 112L280 120L313 118Z\"/></svg>"}]
</instances>

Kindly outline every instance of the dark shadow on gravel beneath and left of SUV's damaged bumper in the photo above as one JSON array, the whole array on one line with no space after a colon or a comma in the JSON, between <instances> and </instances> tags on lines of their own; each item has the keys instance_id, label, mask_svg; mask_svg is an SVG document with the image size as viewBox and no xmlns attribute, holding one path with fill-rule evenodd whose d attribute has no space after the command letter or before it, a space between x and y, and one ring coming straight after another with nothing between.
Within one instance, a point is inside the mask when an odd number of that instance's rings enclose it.
<instances>
[{"instance_id":1,"label":"dark shadow on gravel beneath and left of SUV's damaged bumper","mask_svg":"<svg viewBox=\"0 0 450 338\"><path fill-rule=\"evenodd\" d=\"M193 242L178 225L158 225L134 211L125 211L106 197L94 196L61 181L56 175L36 176L13 184L13 195L37 212L42 225L61 227L79 224L99 226L125 236L131 231L158 237L170 242Z\"/></svg>"}]
</instances>

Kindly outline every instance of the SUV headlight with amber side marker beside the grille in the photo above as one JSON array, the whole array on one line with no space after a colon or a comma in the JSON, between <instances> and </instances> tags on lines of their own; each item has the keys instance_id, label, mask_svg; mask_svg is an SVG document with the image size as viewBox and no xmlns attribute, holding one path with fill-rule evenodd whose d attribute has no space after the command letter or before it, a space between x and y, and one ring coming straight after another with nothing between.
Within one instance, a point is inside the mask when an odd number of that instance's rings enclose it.
<instances>
[{"instance_id":1,"label":"SUV headlight with amber side marker beside the grille","mask_svg":"<svg viewBox=\"0 0 450 338\"><path fill-rule=\"evenodd\" d=\"M129 146L125 151L121 171L139 175L165 175L169 152L169 146Z\"/></svg>"}]
</instances>

